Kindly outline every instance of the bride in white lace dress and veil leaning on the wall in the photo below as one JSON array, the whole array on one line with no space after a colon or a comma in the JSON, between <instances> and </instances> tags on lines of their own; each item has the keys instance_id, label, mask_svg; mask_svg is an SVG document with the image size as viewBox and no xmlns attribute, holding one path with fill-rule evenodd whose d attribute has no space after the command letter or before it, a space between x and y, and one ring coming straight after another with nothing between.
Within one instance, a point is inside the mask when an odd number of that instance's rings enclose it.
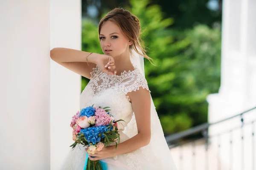
<instances>
[{"instance_id":1,"label":"bride in white lace dress and veil leaning on the wall","mask_svg":"<svg viewBox=\"0 0 256 170\"><path fill-rule=\"evenodd\" d=\"M140 21L129 11L114 8L100 20L99 42L104 54L53 48L51 58L90 79L80 108L111 107L118 122L120 143L95 154L82 145L70 149L61 170L85 170L87 158L107 164L108 170L176 170L144 74ZM70 136L71 137L71 136Z\"/></svg>"}]
</instances>

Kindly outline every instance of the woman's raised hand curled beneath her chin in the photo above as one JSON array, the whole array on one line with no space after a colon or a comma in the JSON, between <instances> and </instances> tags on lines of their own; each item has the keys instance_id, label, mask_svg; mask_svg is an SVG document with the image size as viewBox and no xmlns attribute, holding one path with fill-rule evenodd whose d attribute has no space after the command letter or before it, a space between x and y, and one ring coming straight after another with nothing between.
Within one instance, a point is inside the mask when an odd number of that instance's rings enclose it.
<instances>
[{"instance_id":1,"label":"woman's raised hand curled beneath her chin","mask_svg":"<svg viewBox=\"0 0 256 170\"><path fill-rule=\"evenodd\" d=\"M112 56L99 54L99 56L97 56L96 65L98 65L99 69L104 73L116 74L115 61Z\"/></svg>"}]
</instances>

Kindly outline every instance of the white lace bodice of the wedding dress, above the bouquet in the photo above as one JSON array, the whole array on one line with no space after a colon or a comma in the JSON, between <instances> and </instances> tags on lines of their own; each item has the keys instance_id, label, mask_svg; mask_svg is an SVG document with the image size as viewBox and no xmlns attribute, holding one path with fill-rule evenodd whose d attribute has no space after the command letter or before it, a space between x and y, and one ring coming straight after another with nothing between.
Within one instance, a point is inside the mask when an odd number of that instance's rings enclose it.
<instances>
[{"instance_id":1,"label":"white lace bodice of the wedding dress, above the bouquet","mask_svg":"<svg viewBox=\"0 0 256 170\"><path fill-rule=\"evenodd\" d=\"M123 131L133 115L132 105L126 94L140 87L149 91L146 79L137 67L133 71L124 71L119 76L103 73L96 66L90 74L90 82L81 93L80 107L86 108L93 104L95 107L111 107L110 112L116 120L125 121L118 122L119 131Z\"/></svg>"}]
</instances>

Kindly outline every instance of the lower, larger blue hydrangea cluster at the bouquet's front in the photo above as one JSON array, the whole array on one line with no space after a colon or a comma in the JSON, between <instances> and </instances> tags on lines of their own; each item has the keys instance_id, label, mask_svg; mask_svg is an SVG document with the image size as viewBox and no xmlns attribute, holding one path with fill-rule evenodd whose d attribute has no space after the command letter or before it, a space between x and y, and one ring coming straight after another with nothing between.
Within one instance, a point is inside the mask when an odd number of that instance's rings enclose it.
<instances>
[{"instance_id":1,"label":"lower, larger blue hydrangea cluster at the bouquet's front","mask_svg":"<svg viewBox=\"0 0 256 170\"><path fill-rule=\"evenodd\" d=\"M113 127L111 126L110 130L112 130ZM105 135L102 133L106 132L108 130L106 125L98 126L98 127L88 127L86 129L81 129L80 133L84 133L84 137L87 140L88 143L96 144L100 142L100 139L104 138ZM99 136L99 133L102 134L102 136Z\"/></svg>"}]
</instances>

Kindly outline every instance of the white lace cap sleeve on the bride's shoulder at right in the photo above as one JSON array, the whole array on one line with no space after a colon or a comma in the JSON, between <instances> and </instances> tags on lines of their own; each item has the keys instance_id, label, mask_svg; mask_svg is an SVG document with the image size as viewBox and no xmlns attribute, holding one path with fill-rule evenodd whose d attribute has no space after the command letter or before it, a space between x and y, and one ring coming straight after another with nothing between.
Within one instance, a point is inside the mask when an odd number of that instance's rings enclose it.
<instances>
[{"instance_id":1,"label":"white lace cap sleeve on the bride's shoulder at right","mask_svg":"<svg viewBox=\"0 0 256 170\"><path fill-rule=\"evenodd\" d=\"M122 89L124 94L127 94L131 91L137 91L140 89L140 87L145 88L149 92L151 92L148 88L147 80L140 74L134 74L133 76L123 80L122 82L124 83Z\"/></svg>"}]
</instances>

